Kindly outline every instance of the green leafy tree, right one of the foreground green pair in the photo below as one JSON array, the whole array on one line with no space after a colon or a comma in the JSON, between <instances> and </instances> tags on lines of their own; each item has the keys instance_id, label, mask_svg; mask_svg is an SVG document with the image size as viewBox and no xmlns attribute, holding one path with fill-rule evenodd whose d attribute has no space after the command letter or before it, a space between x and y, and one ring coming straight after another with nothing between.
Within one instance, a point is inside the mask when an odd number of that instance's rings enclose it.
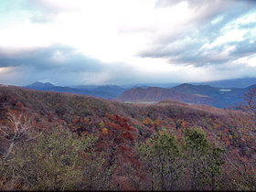
<instances>
[{"instance_id":1,"label":"green leafy tree, right one of the foreground green pair","mask_svg":"<svg viewBox=\"0 0 256 192\"><path fill-rule=\"evenodd\" d=\"M206 133L200 128L185 130L185 158L190 173L190 190L202 190L210 186L218 189L221 176L223 150L208 143Z\"/></svg>"}]
</instances>

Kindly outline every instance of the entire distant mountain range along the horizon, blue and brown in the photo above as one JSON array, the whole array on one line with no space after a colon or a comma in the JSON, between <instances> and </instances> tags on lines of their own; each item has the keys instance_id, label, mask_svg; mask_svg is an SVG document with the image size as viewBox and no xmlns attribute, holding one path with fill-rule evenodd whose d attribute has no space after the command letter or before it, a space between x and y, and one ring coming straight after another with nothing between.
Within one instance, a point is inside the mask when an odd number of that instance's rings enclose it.
<instances>
[{"instance_id":1,"label":"entire distant mountain range along the horizon, blue and brown","mask_svg":"<svg viewBox=\"0 0 256 192\"><path fill-rule=\"evenodd\" d=\"M236 87L236 82L238 87ZM227 108L234 103L240 103L242 96L250 88L255 88L256 84L252 84L251 79L237 79L237 80L219 80L212 81L209 84L219 84L222 86L213 87L197 83L183 83L172 88L163 87L148 87L141 85L139 87L133 86L132 89L125 89L117 85L78 85L70 87L55 86L49 82L35 82L25 88L38 91L58 91L69 92L75 94L91 95L107 100L129 101L129 102L157 102L163 100L182 101L193 104L205 104L218 108ZM256 79L255 79L256 81ZM251 85L252 84L252 85ZM224 85L234 85L226 87ZM242 85L251 85L243 87ZM224 87L224 88L223 88Z\"/></svg>"}]
</instances>

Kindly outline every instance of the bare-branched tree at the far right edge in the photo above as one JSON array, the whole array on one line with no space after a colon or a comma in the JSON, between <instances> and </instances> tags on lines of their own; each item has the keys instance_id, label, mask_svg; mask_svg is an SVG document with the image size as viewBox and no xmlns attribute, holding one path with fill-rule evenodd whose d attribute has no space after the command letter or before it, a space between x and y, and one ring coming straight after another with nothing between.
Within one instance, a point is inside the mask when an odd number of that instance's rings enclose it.
<instances>
[{"instance_id":1,"label":"bare-branched tree at the far right edge","mask_svg":"<svg viewBox=\"0 0 256 192\"><path fill-rule=\"evenodd\" d=\"M232 154L226 155L230 167L240 176L237 179L243 189L256 189L256 88L243 95L243 101L229 110L229 122L238 138L235 144L240 147L239 161L234 161Z\"/></svg>"}]
</instances>

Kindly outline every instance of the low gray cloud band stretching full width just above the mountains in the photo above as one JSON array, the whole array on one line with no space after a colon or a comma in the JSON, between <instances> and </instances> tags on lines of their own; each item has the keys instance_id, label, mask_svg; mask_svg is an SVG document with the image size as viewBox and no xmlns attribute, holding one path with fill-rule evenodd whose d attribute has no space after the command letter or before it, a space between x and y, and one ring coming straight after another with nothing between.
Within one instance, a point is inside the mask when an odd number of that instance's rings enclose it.
<instances>
[{"instance_id":1,"label":"low gray cloud band stretching full width just above the mountains","mask_svg":"<svg viewBox=\"0 0 256 192\"><path fill-rule=\"evenodd\" d=\"M246 42L240 46L244 45ZM186 59L189 61L189 57ZM201 62L204 61L202 59ZM199 58L197 62L199 62ZM1 69L8 68L11 70L1 73ZM197 68L203 70L194 71L185 68L181 69L180 72L147 73L126 63L104 64L96 59L87 58L74 48L60 45L21 51L16 54L0 51L0 83L16 85L27 85L37 80L62 86L74 84L131 85L136 83L198 81L200 80L198 77L208 75L211 77L210 80L218 80L245 75L253 76L256 72L256 69L243 64L238 65L237 68L232 68L229 65L217 65L215 68L204 65L197 66ZM180 75L181 73L187 75Z\"/></svg>"}]
</instances>

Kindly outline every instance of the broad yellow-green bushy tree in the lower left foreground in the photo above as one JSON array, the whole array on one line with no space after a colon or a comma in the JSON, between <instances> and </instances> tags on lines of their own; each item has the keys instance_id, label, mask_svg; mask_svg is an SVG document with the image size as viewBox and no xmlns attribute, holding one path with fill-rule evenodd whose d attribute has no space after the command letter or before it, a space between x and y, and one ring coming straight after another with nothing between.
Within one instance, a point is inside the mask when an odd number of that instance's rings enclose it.
<instances>
[{"instance_id":1,"label":"broad yellow-green bushy tree in the lower left foreground","mask_svg":"<svg viewBox=\"0 0 256 192\"><path fill-rule=\"evenodd\" d=\"M94 136L78 137L57 128L37 137L34 144L18 148L2 161L0 177L12 181L5 189L101 190L104 160L93 154Z\"/></svg>"}]
</instances>

